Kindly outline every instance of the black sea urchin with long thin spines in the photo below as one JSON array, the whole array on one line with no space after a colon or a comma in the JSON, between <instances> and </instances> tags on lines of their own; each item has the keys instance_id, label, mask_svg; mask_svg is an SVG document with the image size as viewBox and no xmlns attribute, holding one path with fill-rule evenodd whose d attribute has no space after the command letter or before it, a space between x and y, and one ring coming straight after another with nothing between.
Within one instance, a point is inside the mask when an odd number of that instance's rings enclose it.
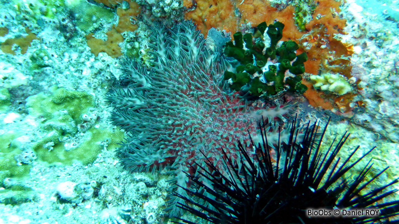
<instances>
[{"instance_id":1,"label":"black sea urchin with long thin spines","mask_svg":"<svg viewBox=\"0 0 399 224\"><path fill-rule=\"evenodd\" d=\"M336 147L331 145L324 154L320 151L320 142L327 125L328 123L322 131L321 138L316 137L318 135L316 122L313 126L309 126L308 123L303 129L303 138L299 144L279 145L277 163L272 163L270 154L265 153L270 150L267 138L255 147L259 157L251 157L243 145L238 143L241 151L241 169L237 168L229 158L224 159L225 169L218 169L208 161L207 167L198 172L199 175L189 175L198 186L198 190L185 189L190 195L196 196L193 197L194 200L177 195L188 202L180 204L180 207L217 224L399 223L389 220L399 214L399 201L379 203L381 199L397 191L388 190L387 187L397 183L398 179L383 187L362 192L387 169L365 182L365 176L373 165L371 160L354 181L344 179L343 175L374 148L354 163L350 163L349 160L358 147L348 158L340 162L340 158L336 159L336 155L349 134L345 133ZM296 142L294 139L298 136L298 129L295 127L296 120L292 122L288 142ZM261 130L265 136L264 128ZM252 141L251 136L249 139ZM207 194L201 191L206 191ZM203 206L196 202L195 198L205 200L214 208ZM200 210L197 210L198 208ZM380 213L374 217L342 216L344 212L342 209L362 208L379 209ZM310 217L308 209L317 211L322 209L323 212L327 211L327 216ZM335 216L334 209L338 209L341 216ZM188 220L181 219L181 221L194 224Z\"/></svg>"}]
</instances>

